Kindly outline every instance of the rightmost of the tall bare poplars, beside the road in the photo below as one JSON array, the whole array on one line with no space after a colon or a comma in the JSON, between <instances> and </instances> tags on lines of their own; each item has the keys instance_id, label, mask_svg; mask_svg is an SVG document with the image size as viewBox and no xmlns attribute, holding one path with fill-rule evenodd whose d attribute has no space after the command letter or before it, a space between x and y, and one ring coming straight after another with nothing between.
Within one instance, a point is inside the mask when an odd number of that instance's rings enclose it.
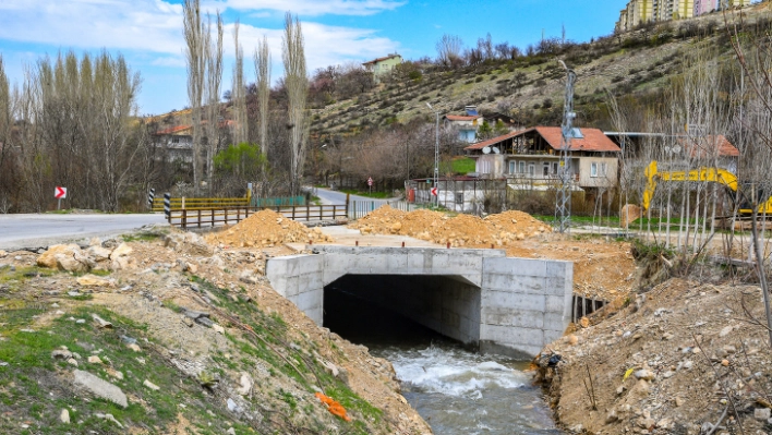
<instances>
[{"instance_id":1,"label":"rightmost of the tall bare poplars, beside the road","mask_svg":"<svg viewBox=\"0 0 772 435\"><path fill-rule=\"evenodd\" d=\"M285 35L281 58L285 64L285 86L287 88L287 128L290 133L290 192L300 193L305 146L309 137L309 120L305 105L309 94L309 78L305 75L305 49L300 20L285 15Z\"/></svg>"}]
</instances>

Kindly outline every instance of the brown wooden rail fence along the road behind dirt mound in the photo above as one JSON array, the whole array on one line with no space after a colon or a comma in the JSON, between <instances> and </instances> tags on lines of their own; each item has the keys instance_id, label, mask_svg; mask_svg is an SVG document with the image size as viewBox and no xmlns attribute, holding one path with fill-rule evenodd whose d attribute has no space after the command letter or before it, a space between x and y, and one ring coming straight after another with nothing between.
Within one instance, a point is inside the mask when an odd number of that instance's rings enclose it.
<instances>
[{"instance_id":1,"label":"brown wooden rail fence along the road behind dirt mound","mask_svg":"<svg viewBox=\"0 0 772 435\"><path fill-rule=\"evenodd\" d=\"M173 227L208 228L224 225L236 225L251 215L272 209L288 219L300 221L336 220L347 217L346 205L304 205L278 207L219 207L198 209L172 209L168 216L169 225Z\"/></svg>"}]
</instances>

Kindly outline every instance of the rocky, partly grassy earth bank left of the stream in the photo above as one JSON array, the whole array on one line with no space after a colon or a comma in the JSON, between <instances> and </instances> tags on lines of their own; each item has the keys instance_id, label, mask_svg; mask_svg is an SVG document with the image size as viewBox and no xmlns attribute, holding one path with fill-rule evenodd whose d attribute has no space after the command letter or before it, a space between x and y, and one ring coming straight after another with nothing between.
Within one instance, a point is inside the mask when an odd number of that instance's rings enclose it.
<instances>
[{"instance_id":1,"label":"rocky, partly grassy earth bank left of the stream","mask_svg":"<svg viewBox=\"0 0 772 435\"><path fill-rule=\"evenodd\" d=\"M169 231L0 251L0 433L431 433L387 361L268 287L269 254Z\"/></svg>"}]
</instances>

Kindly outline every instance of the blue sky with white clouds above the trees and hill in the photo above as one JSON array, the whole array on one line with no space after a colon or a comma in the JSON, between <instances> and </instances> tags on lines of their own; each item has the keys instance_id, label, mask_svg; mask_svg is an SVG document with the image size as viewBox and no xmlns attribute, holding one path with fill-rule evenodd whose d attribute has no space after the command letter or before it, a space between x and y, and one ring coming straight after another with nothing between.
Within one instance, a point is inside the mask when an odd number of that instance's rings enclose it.
<instances>
[{"instance_id":1,"label":"blue sky with white clouds above the trees and hill","mask_svg":"<svg viewBox=\"0 0 772 435\"><path fill-rule=\"evenodd\" d=\"M0 0L0 56L11 83L25 69L60 51L121 53L142 76L140 113L188 106L182 0ZM456 35L465 47L487 33L494 44L524 49L542 35L582 43L608 35L626 0L201 0L225 22L222 88L231 87L233 23L241 23L246 82L252 53L266 36L274 80L282 74L281 33L287 11L305 38L307 71L364 62L398 52L405 59L436 56L436 41Z\"/></svg>"}]
</instances>

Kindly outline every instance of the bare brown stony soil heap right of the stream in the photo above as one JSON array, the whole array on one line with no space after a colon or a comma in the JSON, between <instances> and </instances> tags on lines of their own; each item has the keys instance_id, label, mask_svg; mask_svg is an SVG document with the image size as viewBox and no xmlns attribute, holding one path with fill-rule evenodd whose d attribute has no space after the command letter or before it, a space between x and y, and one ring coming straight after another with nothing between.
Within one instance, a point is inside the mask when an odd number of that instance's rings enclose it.
<instances>
[{"instance_id":1,"label":"bare brown stony soil heap right of the stream","mask_svg":"<svg viewBox=\"0 0 772 435\"><path fill-rule=\"evenodd\" d=\"M550 345L540 374L575 433L769 434L763 313L756 286L673 279Z\"/></svg>"}]
</instances>

